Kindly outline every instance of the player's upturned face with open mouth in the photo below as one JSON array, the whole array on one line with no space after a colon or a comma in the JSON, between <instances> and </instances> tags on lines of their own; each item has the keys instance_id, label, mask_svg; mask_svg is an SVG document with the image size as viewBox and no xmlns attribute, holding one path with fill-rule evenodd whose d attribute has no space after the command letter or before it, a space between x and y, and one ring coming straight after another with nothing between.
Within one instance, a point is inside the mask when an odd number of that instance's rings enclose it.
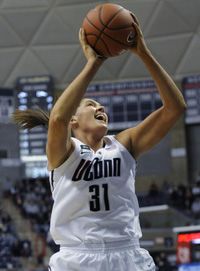
<instances>
[{"instance_id":1,"label":"player's upturned face with open mouth","mask_svg":"<svg viewBox=\"0 0 200 271\"><path fill-rule=\"evenodd\" d=\"M98 129L106 133L108 128L108 116L104 107L92 99L83 99L76 112L79 127L84 132L92 132ZM100 132L99 130L99 132Z\"/></svg>"}]
</instances>

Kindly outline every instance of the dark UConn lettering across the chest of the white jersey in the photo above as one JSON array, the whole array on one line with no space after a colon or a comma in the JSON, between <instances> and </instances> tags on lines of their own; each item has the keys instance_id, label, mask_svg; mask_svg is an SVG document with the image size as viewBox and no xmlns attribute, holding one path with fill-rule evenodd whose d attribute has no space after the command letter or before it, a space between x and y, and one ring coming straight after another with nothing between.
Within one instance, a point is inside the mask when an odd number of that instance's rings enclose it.
<instances>
[{"instance_id":1,"label":"dark UConn lettering across the chest of the white jersey","mask_svg":"<svg viewBox=\"0 0 200 271\"><path fill-rule=\"evenodd\" d=\"M82 159L76 168L72 181L80 180L93 181L95 179L117 177L121 175L121 159L112 158L100 160L94 158L91 160Z\"/></svg>"}]
</instances>

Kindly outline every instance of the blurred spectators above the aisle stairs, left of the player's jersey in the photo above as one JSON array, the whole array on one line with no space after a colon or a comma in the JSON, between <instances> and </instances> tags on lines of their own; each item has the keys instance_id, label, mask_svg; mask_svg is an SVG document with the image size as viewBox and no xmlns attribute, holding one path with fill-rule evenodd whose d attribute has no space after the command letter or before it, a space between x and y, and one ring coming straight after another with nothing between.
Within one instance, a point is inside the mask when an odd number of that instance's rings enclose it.
<instances>
[{"instance_id":1,"label":"blurred spectators above the aisle stairs, left of the player's jersey","mask_svg":"<svg viewBox=\"0 0 200 271\"><path fill-rule=\"evenodd\" d=\"M22 216L31 221L32 230L46 237L53 203L48 180L23 179L11 187L10 193Z\"/></svg>"}]
</instances>

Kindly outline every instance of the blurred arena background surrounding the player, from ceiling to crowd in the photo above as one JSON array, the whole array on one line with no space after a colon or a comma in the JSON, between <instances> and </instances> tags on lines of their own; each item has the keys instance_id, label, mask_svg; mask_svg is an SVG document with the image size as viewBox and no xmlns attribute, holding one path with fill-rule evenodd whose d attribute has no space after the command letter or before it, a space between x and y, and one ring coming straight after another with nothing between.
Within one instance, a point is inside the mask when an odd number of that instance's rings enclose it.
<instances>
[{"instance_id":1,"label":"blurred arena background surrounding the player, from ceiling to crowd","mask_svg":"<svg viewBox=\"0 0 200 271\"><path fill-rule=\"evenodd\" d=\"M47 270L57 249L48 234L46 131L19 132L10 115L17 107L51 109L85 63L78 41L84 16L105 2L0 0L0 270ZM157 270L198 271L200 1L109 2L137 15L148 46L188 105L168 136L138 161L141 246L154 257ZM155 91L141 61L125 53L105 62L89 96L106 107L112 103L110 133L115 133L160 106Z\"/></svg>"}]
</instances>

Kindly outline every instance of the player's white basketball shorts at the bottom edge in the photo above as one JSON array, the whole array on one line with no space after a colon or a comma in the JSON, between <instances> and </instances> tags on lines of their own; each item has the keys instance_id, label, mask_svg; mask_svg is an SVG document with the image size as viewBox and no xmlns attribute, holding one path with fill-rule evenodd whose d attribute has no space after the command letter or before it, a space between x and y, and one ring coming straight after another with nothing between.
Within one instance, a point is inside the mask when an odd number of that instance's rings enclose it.
<instances>
[{"instance_id":1,"label":"player's white basketball shorts at the bottom edge","mask_svg":"<svg viewBox=\"0 0 200 271\"><path fill-rule=\"evenodd\" d=\"M138 241L61 246L49 262L49 271L155 271L148 251Z\"/></svg>"}]
</instances>

